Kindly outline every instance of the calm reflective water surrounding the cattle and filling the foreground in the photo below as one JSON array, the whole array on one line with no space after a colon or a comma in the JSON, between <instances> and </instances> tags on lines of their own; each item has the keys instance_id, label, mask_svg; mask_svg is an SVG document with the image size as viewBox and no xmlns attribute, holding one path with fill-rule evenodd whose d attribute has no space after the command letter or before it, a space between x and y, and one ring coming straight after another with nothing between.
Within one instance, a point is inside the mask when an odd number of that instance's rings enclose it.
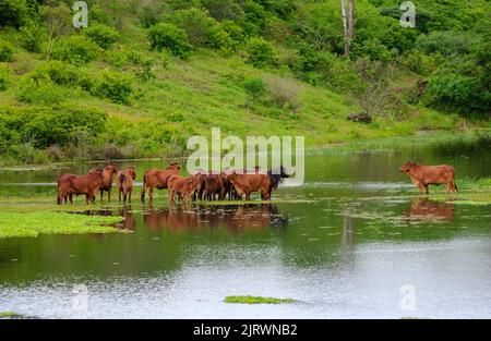
<instances>
[{"instance_id":1,"label":"calm reflective water surrounding the cattle and filling the foreground","mask_svg":"<svg viewBox=\"0 0 491 341\"><path fill-rule=\"evenodd\" d=\"M491 318L491 206L420 197L398 171L412 159L455 166L457 184L489 178L490 150L484 141L309 156L306 183L280 187L265 205L184 209L160 198L152 207L137 188L131 206L88 212L124 217L132 233L0 240L0 310L43 318ZM163 165L136 162L139 179ZM60 172L93 166L0 171L0 191L47 191ZM226 304L228 295L297 302Z\"/></svg>"}]
</instances>

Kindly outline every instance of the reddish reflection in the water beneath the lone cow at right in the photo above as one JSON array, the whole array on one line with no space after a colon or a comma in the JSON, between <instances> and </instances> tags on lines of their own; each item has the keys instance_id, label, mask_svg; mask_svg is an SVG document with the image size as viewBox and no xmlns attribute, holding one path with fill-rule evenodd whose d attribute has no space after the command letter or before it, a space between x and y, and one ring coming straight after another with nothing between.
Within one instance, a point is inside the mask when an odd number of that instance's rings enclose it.
<instances>
[{"instance_id":1,"label":"reddish reflection in the water beneath the lone cow at right","mask_svg":"<svg viewBox=\"0 0 491 341\"><path fill-rule=\"evenodd\" d=\"M454 219L454 205L430 200L429 198L416 198L406 212L410 220L442 220Z\"/></svg>"}]
</instances>

